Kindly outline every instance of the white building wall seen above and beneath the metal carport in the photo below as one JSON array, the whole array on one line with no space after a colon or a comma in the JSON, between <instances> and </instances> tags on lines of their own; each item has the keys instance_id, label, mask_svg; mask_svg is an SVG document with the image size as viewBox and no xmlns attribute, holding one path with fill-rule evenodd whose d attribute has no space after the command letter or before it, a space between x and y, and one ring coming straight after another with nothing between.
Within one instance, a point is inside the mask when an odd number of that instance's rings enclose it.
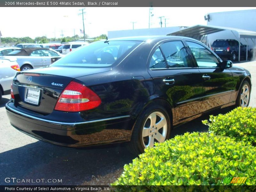
<instances>
[{"instance_id":1,"label":"white building wall seen above and beneath the metal carport","mask_svg":"<svg viewBox=\"0 0 256 192\"><path fill-rule=\"evenodd\" d=\"M218 12L209 13L210 20L207 21L207 25L218 27L231 27L244 29L249 31L256 31L256 9L244 10L244 11L232 11L232 12ZM235 35L234 35L235 34ZM216 39L239 39L236 32L234 34L229 31L221 31L218 33L210 34L207 36L209 46L212 45ZM246 44L246 39L241 38L241 43ZM249 50L254 47L253 41L248 39Z\"/></svg>"}]
</instances>

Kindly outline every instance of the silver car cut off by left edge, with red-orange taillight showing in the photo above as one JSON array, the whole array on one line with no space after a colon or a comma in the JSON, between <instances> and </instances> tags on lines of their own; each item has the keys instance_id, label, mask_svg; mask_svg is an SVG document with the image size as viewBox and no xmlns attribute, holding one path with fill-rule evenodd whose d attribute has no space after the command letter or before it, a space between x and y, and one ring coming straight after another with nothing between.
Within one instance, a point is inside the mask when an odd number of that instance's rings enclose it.
<instances>
[{"instance_id":1,"label":"silver car cut off by left edge, with red-orange taillight showing","mask_svg":"<svg viewBox=\"0 0 256 192\"><path fill-rule=\"evenodd\" d=\"M20 71L15 57L0 57L0 99L10 94L11 84L16 72Z\"/></svg>"}]
</instances>

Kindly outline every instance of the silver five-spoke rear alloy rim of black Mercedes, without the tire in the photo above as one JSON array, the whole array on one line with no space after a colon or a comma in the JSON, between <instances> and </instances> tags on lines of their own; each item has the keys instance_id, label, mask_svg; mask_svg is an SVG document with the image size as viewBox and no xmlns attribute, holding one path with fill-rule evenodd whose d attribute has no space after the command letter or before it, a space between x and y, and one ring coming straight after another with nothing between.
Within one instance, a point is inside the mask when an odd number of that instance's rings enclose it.
<instances>
[{"instance_id":1,"label":"silver five-spoke rear alloy rim of black Mercedes, without the tire","mask_svg":"<svg viewBox=\"0 0 256 192\"><path fill-rule=\"evenodd\" d=\"M145 148L154 147L154 142L162 143L167 136L167 121L163 113L151 113L143 126L142 142Z\"/></svg>"}]
</instances>

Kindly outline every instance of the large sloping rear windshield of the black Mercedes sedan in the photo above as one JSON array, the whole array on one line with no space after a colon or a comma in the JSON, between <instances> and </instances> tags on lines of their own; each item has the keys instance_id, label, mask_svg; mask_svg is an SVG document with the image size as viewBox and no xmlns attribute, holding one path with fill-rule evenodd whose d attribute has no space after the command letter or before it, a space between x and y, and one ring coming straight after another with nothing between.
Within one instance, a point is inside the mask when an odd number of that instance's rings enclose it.
<instances>
[{"instance_id":1,"label":"large sloping rear windshield of the black Mercedes sedan","mask_svg":"<svg viewBox=\"0 0 256 192\"><path fill-rule=\"evenodd\" d=\"M140 43L141 41L95 42L70 52L67 56L54 62L52 66L74 64L88 67L108 67L115 62L120 62Z\"/></svg>"}]
</instances>

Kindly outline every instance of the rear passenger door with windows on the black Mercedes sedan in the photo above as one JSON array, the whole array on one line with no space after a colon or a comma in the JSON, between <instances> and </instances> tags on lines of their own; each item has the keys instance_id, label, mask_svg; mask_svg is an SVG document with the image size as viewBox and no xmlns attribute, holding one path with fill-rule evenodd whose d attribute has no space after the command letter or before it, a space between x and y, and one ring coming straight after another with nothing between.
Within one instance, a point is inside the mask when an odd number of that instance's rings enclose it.
<instances>
[{"instance_id":1,"label":"rear passenger door with windows on the black Mercedes sedan","mask_svg":"<svg viewBox=\"0 0 256 192\"><path fill-rule=\"evenodd\" d=\"M202 78L181 39L164 42L149 56L148 72L175 110L175 122L200 112Z\"/></svg>"}]
</instances>

